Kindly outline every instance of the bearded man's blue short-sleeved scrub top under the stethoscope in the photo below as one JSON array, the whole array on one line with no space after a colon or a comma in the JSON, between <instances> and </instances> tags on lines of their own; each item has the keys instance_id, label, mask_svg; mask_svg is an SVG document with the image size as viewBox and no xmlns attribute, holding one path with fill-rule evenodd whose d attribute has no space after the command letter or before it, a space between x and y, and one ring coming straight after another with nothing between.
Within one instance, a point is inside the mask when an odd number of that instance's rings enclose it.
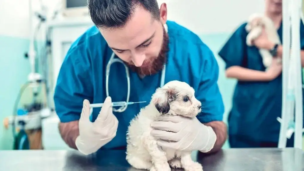
<instances>
[{"instance_id":1,"label":"bearded man's blue short-sleeved scrub top under the stethoscope","mask_svg":"<svg viewBox=\"0 0 304 171\"><path fill-rule=\"evenodd\" d=\"M202 40L175 22L168 21L169 49L165 84L172 80L187 82L195 89L195 96L202 102L202 123L223 120L224 105L217 80L217 61ZM105 68L112 55L105 39L93 26L81 35L69 49L57 79L54 92L55 110L61 122L79 120L84 99L90 103L103 103L106 98ZM141 79L130 72L130 101L147 101L133 104L122 112L113 112L119 124L116 137L102 148L126 146L126 131L140 108L148 105L160 86L161 72ZM109 76L109 96L113 102L125 101L127 80L125 68L113 63ZM96 119L100 108L94 108Z\"/></svg>"}]
</instances>

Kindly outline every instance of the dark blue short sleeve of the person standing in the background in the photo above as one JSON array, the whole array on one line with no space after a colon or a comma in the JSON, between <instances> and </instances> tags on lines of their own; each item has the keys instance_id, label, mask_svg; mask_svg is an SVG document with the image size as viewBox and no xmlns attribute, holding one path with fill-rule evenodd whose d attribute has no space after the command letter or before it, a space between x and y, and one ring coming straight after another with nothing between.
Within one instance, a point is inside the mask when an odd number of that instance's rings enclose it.
<instances>
[{"instance_id":1,"label":"dark blue short sleeve of the person standing in the background","mask_svg":"<svg viewBox=\"0 0 304 171\"><path fill-rule=\"evenodd\" d=\"M226 69L231 66L242 66L247 36L245 26L246 23L237 28L219 51L219 56L226 63Z\"/></svg>"}]
</instances>

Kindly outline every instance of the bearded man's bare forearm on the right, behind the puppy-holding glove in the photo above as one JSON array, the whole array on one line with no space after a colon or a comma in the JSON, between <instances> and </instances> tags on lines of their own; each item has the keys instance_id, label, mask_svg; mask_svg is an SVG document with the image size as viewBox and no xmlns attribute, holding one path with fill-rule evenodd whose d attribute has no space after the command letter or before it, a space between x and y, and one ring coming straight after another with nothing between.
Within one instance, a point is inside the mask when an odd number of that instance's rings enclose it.
<instances>
[{"instance_id":1,"label":"bearded man's bare forearm on the right, behind the puppy-holding glove","mask_svg":"<svg viewBox=\"0 0 304 171\"><path fill-rule=\"evenodd\" d=\"M216 134L216 141L213 148L207 153L213 153L219 151L226 139L227 139L227 126L223 121L212 121L205 123L204 125L212 127L213 131Z\"/></svg>"}]
</instances>

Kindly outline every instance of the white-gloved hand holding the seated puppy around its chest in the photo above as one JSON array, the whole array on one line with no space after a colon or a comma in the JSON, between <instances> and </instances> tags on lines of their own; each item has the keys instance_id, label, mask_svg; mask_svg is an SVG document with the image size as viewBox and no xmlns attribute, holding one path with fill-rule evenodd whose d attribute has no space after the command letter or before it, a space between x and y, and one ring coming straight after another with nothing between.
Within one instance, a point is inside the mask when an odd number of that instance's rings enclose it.
<instances>
[{"instance_id":1,"label":"white-gloved hand holding the seated puppy around its chest","mask_svg":"<svg viewBox=\"0 0 304 171\"><path fill-rule=\"evenodd\" d=\"M196 117L161 116L151 124L151 135L161 147L175 150L209 152L216 141L212 127L202 124ZM168 132L170 131L170 132Z\"/></svg>"}]
</instances>

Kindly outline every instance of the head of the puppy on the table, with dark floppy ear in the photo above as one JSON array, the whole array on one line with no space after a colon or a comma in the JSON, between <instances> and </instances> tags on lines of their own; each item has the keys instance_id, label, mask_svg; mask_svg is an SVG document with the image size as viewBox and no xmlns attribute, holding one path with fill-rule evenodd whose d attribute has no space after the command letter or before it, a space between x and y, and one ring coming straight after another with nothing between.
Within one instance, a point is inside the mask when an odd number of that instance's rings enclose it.
<instances>
[{"instance_id":1,"label":"head of the puppy on the table, with dark floppy ear","mask_svg":"<svg viewBox=\"0 0 304 171\"><path fill-rule=\"evenodd\" d=\"M195 117L201 112L202 103L195 98L194 93L187 83L171 81L156 90L152 103L161 114Z\"/></svg>"}]
</instances>

